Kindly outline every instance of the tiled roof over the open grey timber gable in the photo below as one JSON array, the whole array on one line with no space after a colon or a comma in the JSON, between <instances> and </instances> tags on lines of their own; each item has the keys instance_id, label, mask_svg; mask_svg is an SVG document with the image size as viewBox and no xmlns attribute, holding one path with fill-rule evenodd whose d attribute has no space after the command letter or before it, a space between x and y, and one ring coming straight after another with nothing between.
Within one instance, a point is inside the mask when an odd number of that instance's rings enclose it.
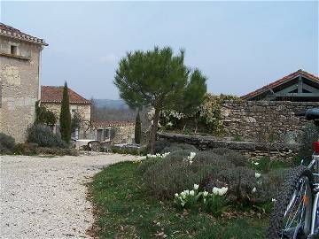
<instances>
[{"instance_id":1,"label":"tiled roof over the open grey timber gable","mask_svg":"<svg viewBox=\"0 0 319 239\"><path fill-rule=\"evenodd\" d=\"M246 94L245 96L240 96L240 98L242 99L247 99L247 98L251 98L253 96L258 96L264 92L266 92L267 90L269 89L274 89L276 88L277 86L283 84L284 82L287 82L287 81L291 81L292 79L298 77L299 75L301 76L304 76L306 77L307 79L310 79L312 81L316 81L319 83L319 77L318 76L315 76L314 74L312 73L307 73L303 70L298 70L297 72L294 72L294 73L291 73L291 74L288 74L286 76L284 76L283 78L277 80L277 81L274 81L266 86L263 86L262 88L260 89L256 89L254 90L253 92L250 92L248 94Z\"/></svg>"}]
</instances>

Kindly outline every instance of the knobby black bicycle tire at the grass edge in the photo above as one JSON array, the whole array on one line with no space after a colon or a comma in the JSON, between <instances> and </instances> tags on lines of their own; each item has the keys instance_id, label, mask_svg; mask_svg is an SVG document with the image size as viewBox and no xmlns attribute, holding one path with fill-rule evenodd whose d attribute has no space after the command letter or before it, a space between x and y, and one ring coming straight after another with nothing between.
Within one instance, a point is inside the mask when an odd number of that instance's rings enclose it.
<instances>
[{"instance_id":1,"label":"knobby black bicycle tire at the grass edge","mask_svg":"<svg viewBox=\"0 0 319 239\"><path fill-rule=\"evenodd\" d=\"M278 232L282 229L284 222L284 213L292 199L292 195L296 190L296 186L302 177L307 177L309 185L311 185L312 173L306 166L298 166L289 173L284 186L280 193L280 197L277 197L274 210L270 217L269 227L267 232L268 239L280 239ZM311 187L311 186L310 186ZM312 200L312 196L311 196ZM310 210L311 215L311 210ZM302 237L301 237L302 238ZM301 239L300 238L300 239ZM307 237L305 237L307 238Z\"/></svg>"}]
</instances>

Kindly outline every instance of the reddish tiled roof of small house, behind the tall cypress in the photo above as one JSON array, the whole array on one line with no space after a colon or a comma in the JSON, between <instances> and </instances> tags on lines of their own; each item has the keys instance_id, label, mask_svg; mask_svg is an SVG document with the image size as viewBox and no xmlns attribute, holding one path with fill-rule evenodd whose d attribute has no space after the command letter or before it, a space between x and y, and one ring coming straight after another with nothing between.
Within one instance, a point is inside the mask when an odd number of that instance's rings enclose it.
<instances>
[{"instance_id":1,"label":"reddish tiled roof of small house, behind the tall cypress","mask_svg":"<svg viewBox=\"0 0 319 239\"><path fill-rule=\"evenodd\" d=\"M89 100L80 96L74 90L68 89L70 104L91 104ZM41 102L61 103L63 96L62 86L41 86Z\"/></svg>"}]
</instances>

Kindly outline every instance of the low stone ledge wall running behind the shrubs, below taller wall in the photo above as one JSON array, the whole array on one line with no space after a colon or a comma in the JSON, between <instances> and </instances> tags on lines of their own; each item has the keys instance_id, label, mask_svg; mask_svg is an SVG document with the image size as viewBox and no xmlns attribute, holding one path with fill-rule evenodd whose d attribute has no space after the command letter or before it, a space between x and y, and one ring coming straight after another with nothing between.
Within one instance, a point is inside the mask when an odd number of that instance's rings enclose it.
<instances>
[{"instance_id":1,"label":"low stone ledge wall running behind the shrubs, below taller wall","mask_svg":"<svg viewBox=\"0 0 319 239\"><path fill-rule=\"evenodd\" d=\"M212 136L181 135L175 133L158 133L159 139L170 142L188 143L196 146L198 150L210 150L214 148L228 148L237 150L247 158L259 159L269 157L271 160L290 161L300 149L299 143L257 143L222 141Z\"/></svg>"}]
</instances>

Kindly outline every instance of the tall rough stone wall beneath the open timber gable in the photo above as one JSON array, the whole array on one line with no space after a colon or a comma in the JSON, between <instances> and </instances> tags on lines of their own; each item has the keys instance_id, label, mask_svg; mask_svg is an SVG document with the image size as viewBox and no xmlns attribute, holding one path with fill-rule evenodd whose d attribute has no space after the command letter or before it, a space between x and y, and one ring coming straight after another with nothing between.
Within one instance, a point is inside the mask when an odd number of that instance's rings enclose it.
<instances>
[{"instance_id":1,"label":"tall rough stone wall beneath the open timber gable","mask_svg":"<svg viewBox=\"0 0 319 239\"><path fill-rule=\"evenodd\" d=\"M319 107L319 102L227 101L222 123L227 136L257 142L300 143L306 120L295 112Z\"/></svg>"}]
</instances>

